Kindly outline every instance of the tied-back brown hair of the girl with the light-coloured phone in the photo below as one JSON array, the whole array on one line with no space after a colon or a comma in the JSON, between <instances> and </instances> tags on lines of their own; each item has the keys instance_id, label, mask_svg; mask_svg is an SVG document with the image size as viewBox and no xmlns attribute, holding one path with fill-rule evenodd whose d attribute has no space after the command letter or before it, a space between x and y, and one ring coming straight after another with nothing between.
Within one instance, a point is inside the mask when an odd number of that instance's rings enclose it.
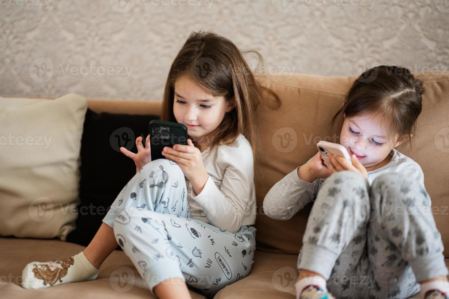
<instances>
[{"instance_id":1,"label":"tied-back brown hair of the girl with the light-coloured phone","mask_svg":"<svg viewBox=\"0 0 449 299\"><path fill-rule=\"evenodd\" d=\"M422 110L423 82L415 79L410 70L396 65L380 65L365 70L344 96L343 106L331 119L343 121L346 117L366 113L383 113L387 119L388 139L394 144L399 138L411 137L416 130L416 119ZM382 118L382 119L383 119ZM411 139L410 146L411 146Z\"/></svg>"}]
</instances>

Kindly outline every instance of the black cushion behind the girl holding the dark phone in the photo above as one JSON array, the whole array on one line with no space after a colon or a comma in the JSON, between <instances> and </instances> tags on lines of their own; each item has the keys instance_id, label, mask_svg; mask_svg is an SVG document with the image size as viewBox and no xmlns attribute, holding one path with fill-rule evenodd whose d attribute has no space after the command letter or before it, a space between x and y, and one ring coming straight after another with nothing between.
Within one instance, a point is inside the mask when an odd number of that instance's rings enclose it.
<instances>
[{"instance_id":1,"label":"black cushion behind the girl holding the dark phone","mask_svg":"<svg viewBox=\"0 0 449 299\"><path fill-rule=\"evenodd\" d=\"M81 179L76 229L68 242L88 246L110 205L136 174L132 159L120 152L123 146L137 153L136 138L145 143L148 124L158 115L86 112L81 139ZM120 246L117 249L122 250Z\"/></svg>"}]
</instances>

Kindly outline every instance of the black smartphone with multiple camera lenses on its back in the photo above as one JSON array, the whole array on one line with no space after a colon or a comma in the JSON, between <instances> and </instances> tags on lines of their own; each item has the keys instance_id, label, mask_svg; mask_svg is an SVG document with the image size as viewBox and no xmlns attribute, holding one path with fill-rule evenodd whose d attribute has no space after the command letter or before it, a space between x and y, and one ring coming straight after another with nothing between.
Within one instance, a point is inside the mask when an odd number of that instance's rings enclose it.
<instances>
[{"instance_id":1,"label":"black smartphone with multiple camera lenses on its back","mask_svg":"<svg viewBox=\"0 0 449 299\"><path fill-rule=\"evenodd\" d=\"M164 147L175 144L187 145L187 127L172 121L152 120L149 125L151 160L165 158L162 155Z\"/></svg>"}]
</instances>

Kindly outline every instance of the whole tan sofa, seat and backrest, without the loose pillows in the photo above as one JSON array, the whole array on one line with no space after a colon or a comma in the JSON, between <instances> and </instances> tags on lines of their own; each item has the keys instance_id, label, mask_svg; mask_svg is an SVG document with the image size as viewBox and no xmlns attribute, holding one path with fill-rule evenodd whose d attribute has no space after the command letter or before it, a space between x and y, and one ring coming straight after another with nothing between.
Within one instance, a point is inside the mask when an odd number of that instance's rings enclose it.
<instances>
[{"instance_id":1,"label":"whole tan sofa, seat and backrest, without the loose pillows","mask_svg":"<svg viewBox=\"0 0 449 299\"><path fill-rule=\"evenodd\" d=\"M445 244L449 266L449 74L418 74L426 89L418 129L409 145L397 149L417 161L436 208L434 217ZM275 221L264 215L262 202L271 186L286 173L313 156L321 139L335 141L340 128L331 129L328 120L337 110L353 77L325 77L294 74L260 75L282 100L279 109L261 106L257 128L263 155L255 171L264 178L256 182L258 215L255 263L248 277L221 290L215 298L294 298L296 261L311 205L289 221ZM160 102L88 100L95 112L154 114ZM280 144L290 134L292 144ZM285 140L284 140L285 141ZM338 139L336 140L338 142ZM7 175L7 174L6 174ZM113 199L111 199L113 200ZM13 221L13 220L12 220ZM123 251L114 251L101 266L94 281L69 283L40 290L20 286L23 267L30 261L48 261L75 255L83 246L57 239L0 238L0 297L2 298L149 298L148 287ZM205 298L191 291L193 298Z\"/></svg>"}]
</instances>

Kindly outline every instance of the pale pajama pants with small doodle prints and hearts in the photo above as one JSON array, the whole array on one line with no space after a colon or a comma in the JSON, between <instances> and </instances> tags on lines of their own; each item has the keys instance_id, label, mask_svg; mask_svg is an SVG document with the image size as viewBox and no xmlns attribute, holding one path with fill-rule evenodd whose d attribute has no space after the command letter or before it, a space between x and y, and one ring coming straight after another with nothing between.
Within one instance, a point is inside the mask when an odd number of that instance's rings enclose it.
<instances>
[{"instance_id":1,"label":"pale pajama pants with small doodle prints and hearts","mask_svg":"<svg viewBox=\"0 0 449 299\"><path fill-rule=\"evenodd\" d=\"M158 159L123 187L103 219L154 294L154 286L180 277L208 298L246 277L254 263L255 231L234 234L189 218L179 165Z\"/></svg>"}]
</instances>

